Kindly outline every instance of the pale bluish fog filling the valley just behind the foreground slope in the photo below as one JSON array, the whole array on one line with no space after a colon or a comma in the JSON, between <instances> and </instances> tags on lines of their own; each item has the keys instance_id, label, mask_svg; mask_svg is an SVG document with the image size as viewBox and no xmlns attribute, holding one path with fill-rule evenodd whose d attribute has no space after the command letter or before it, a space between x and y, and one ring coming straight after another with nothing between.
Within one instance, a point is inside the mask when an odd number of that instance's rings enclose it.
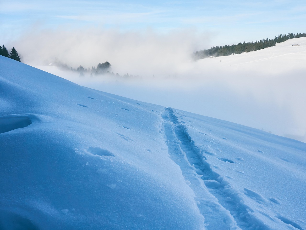
<instances>
[{"instance_id":1,"label":"pale bluish fog filling the valley just behind the foreground slope","mask_svg":"<svg viewBox=\"0 0 306 230\"><path fill-rule=\"evenodd\" d=\"M304 140L306 79L302 71L272 75L216 71L170 77L79 77L40 67L79 85Z\"/></svg>"}]
</instances>

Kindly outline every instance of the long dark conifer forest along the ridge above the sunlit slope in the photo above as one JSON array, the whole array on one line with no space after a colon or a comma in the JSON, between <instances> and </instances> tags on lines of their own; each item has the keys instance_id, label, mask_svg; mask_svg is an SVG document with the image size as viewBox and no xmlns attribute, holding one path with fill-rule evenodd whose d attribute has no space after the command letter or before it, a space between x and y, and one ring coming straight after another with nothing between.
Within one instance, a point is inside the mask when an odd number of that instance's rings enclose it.
<instances>
[{"instance_id":1,"label":"long dark conifer forest along the ridge above the sunlit slope","mask_svg":"<svg viewBox=\"0 0 306 230\"><path fill-rule=\"evenodd\" d=\"M291 38L305 37L305 33L288 33L288 34L280 34L275 36L274 39L262 39L255 42L240 42L238 44L233 45L225 45L225 46L216 46L211 47L210 49L203 49L200 51L196 51L193 53L194 59L203 59L210 56L218 57L218 56L229 56L231 54L240 54L243 52L251 52L259 49L268 48L271 46L275 46L276 43L284 42Z\"/></svg>"}]
</instances>

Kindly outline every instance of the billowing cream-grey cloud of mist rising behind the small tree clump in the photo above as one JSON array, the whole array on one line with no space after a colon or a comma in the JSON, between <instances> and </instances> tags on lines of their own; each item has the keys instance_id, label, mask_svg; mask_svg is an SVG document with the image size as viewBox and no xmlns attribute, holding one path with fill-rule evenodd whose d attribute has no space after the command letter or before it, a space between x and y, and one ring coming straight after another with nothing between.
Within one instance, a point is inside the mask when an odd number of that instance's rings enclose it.
<instances>
[{"instance_id":1,"label":"billowing cream-grey cloud of mist rising behind the small tree clump","mask_svg":"<svg viewBox=\"0 0 306 230\"><path fill-rule=\"evenodd\" d=\"M176 30L160 34L120 32L112 29L58 29L30 31L14 41L22 62L30 65L61 63L69 68L97 67L108 61L111 71L119 75L142 77L173 75L184 71L184 63L192 60L192 53L207 41L209 35L194 30Z\"/></svg>"}]
</instances>

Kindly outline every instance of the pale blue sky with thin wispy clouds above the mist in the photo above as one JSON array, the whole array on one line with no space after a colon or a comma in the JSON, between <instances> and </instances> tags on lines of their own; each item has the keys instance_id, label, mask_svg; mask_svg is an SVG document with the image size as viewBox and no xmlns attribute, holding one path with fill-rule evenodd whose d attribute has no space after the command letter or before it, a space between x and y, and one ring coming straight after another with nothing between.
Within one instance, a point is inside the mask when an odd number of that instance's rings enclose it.
<instances>
[{"instance_id":1,"label":"pale blue sky with thin wispy clouds above the mist","mask_svg":"<svg viewBox=\"0 0 306 230\"><path fill-rule=\"evenodd\" d=\"M0 42L29 29L193 29L208 45L306 32L305 1L0 1Z\"/></svg>"}]
</instances>

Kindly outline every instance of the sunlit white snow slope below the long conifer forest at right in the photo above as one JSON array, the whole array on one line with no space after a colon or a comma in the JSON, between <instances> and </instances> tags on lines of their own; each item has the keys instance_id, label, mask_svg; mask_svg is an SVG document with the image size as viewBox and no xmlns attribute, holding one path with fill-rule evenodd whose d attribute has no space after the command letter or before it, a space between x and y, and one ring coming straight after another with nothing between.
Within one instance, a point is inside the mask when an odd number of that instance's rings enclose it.
<instances>
[{"instance_id":1,"label":"sunlit white snow slope below the long conifer forest at right","mask_svg":"<svg viewBox=\"0 0 306 230\"><path fill-rule=\"evenodd\" d=\"M299 46L292 46L299 44ZM197 61L200 68L216 67L226 71L258 72L278 75L283 71L305 69L306 38L289 39L275 46L242 54L205 58ZM221 60L221 62L220 62Z\"/></svg>"}]
</instances>

